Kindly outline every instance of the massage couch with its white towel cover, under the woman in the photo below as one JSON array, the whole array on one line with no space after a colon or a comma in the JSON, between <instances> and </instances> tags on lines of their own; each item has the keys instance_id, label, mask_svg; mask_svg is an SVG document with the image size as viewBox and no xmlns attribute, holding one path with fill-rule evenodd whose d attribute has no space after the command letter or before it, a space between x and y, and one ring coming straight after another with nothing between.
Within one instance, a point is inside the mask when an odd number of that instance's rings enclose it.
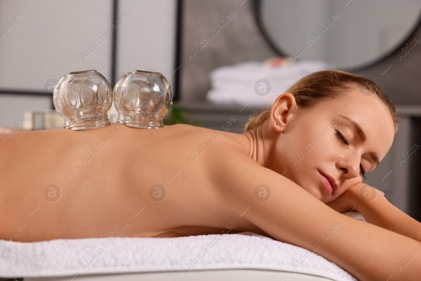
<instances>
[{"instance_id":1,"label":"massage couch with its white towel cover, under the woman","mask_svg":"<svg viewBox=\"0 0 421 281\"><path fill-rule=\"evenodd\" d=\"M250 232L0 242L0 281L357 280L307 249Z\"/></svg>"}]
</instances>

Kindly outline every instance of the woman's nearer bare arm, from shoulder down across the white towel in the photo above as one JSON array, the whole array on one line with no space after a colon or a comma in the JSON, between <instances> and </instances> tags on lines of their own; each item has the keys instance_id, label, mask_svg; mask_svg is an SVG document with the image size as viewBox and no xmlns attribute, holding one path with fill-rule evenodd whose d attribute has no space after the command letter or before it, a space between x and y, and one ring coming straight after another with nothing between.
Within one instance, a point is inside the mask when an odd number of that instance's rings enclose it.
<instances>
[{"instance_id":1,"label":"woman's nearer bare arm, from shoulder down across the white towel","mask_svg":"<svg viewBox=\"0 0 421 281\"><path fill-rule=\"evenodd\" d=\"M346 217L280 174L225 154L237 167L213 169L221 174L221 198L238 214L238 220L247 220L279 241L314 250L361 281L386 281L391 276L390 280L419 280L418 241ZM228 175L222 176L220 169ZM269 187L269 200L258 199L259 185ZM402 263L414 255L414 249L416 256Z\"/></svg>"}]
</instances>

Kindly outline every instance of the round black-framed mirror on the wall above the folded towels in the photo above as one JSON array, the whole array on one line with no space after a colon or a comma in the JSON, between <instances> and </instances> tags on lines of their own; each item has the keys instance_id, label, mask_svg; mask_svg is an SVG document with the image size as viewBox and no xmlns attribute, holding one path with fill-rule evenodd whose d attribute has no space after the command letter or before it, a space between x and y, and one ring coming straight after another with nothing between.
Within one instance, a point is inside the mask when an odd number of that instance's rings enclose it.
<instances>
[{"instance_id":1,"label":"round black-framed mirror on the wall above the folded towels","mask_svg":"<svg viewBox=\"0 0 421 281\"><path fill-rule=\"evenodd\" d=\"M420 42L421 34L410 39L421 25L421 1L397 1L254 0L253 5L261 33L280 56L358 71L405 56Z\"/></svg>"}]
</instances>

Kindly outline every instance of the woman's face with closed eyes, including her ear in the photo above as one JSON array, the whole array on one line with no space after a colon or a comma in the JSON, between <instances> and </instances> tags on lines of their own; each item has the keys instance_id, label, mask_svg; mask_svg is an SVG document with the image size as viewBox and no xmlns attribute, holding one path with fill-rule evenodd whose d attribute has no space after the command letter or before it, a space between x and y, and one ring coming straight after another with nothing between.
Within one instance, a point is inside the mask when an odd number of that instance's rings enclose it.
<instances>
[{"instance_id":1,"label":"woman's face with closed eyes, including her ear","mask_svg":"<svg viewBox=\"0 0 421 281\"><path fill-rule=\"evenodd\" d=\"M365 96L359 89L304 110L296 107L292 94L282 94L268 121L264 125L276 131L272 152L277 157L265 155L265 166L285 172L324 203L362 182L362 170L375 169L394 139L389 109L376 95Z\"/></svg>"}]
</instances>

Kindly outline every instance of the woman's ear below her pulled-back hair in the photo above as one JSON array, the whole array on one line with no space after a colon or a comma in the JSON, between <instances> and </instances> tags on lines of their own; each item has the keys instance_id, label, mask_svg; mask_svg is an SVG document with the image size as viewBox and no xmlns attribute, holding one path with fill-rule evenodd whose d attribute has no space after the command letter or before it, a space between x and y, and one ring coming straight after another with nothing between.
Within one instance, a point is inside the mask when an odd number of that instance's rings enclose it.
<instances>
[{"instance_id":1,"label":"woman's ear below her pulled-back hair","mask_svg":"<svg viewBox=\"0 0 421 281\"><path fill-rule=\"evenodd\" d=\"M293 113L297 112L298 105L295 96L291 93L284 93L277 97L270 112L270 122L278 133L285 131L288 122L293 118Z\"/></svg>"}]
</instances>

